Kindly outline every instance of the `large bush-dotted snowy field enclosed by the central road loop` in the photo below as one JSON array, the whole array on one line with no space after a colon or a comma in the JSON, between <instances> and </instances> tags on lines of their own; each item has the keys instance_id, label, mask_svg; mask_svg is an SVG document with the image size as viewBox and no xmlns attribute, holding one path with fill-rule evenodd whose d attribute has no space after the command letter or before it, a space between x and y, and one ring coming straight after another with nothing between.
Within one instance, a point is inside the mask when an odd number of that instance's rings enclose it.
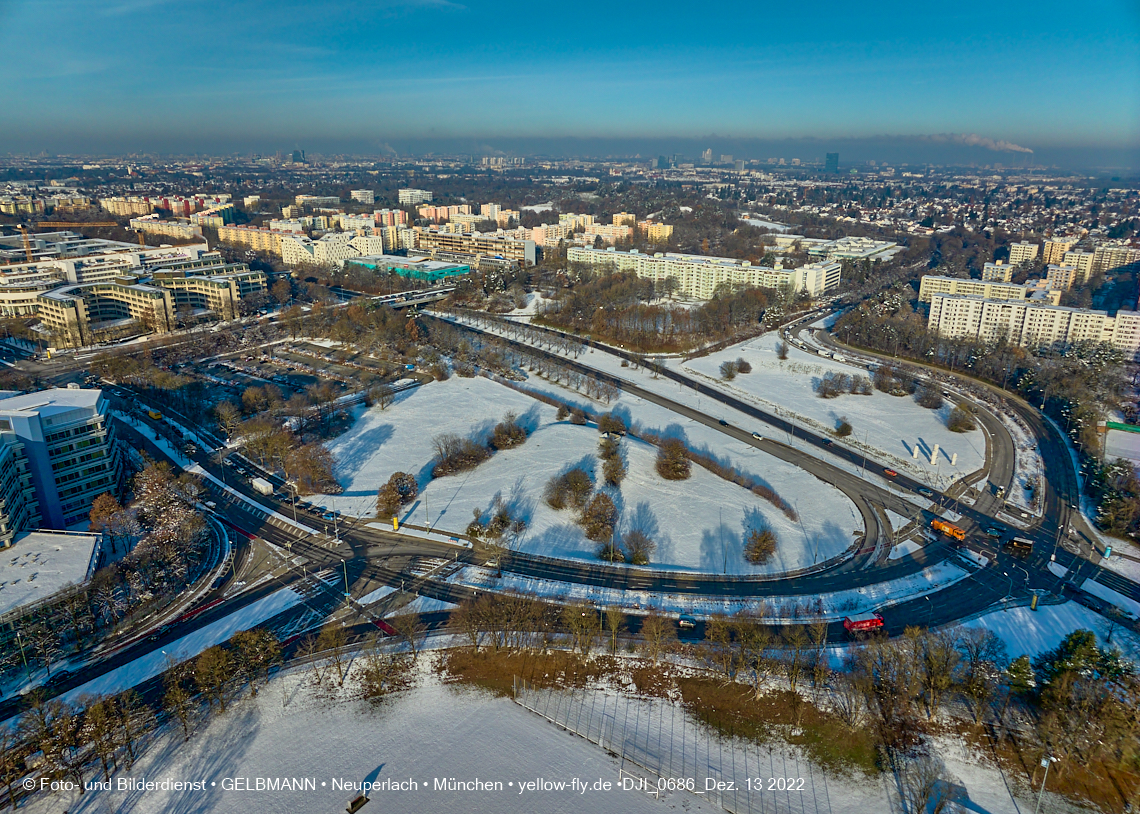
<instances>
[{"instance_id":1,"label":"large bush-dotted snowy field enclosed by the central road loop","mask_svg":"<svg viewBox=\"0 0 1140 814\"><path fill-rule=\"evenodd\" d=\"M546 382L530 384L572 404L586 402ZM658 545L654 565L783 572L840 555L862 527L855 506L841 493L798 467L640 399L622 396L610 407L629 424L684 438L694 448L731 461L769 482L798 510L799 520L789 520L766 500L699 466L693 466L690 480L665 481L654 470L656 447L627 438L621 447L628 474L620 489L608 491L620 512L618 537L634 529L646 532ZM430 479L434 436L450 432L483 441L507 412L516 413L530 431L526 445L497 453L470 472ZM372 515L376 489L393 472L406 471L415 475L421 494L401 515L404 522L462 532L473 510L488 511L498 495L513 516L527 521L521 550L593 560L597 545L586 539L573 512L556 512L542 497L551 478L573 466L601 480L597 442L596 429L556 421L553 407L528 396L482 377L453 377L404 393L386 410L376 407L363 414L329 445L344 493L335 498L317 496L315 502ZM780 547L767 565L750 565L741 554L743 539L748 529L760 524L776 531Z\"/></svg>"}]
</instances>

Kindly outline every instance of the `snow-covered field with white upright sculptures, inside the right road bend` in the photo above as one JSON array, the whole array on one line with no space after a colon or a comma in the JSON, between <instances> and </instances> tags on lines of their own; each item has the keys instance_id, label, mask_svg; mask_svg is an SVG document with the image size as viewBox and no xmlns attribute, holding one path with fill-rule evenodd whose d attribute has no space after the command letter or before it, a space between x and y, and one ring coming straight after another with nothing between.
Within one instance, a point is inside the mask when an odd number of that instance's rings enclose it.
<instances>
[{"instance_id":1,"label":"snow-covered field with white upright sculptures, inside the right road bend","mask_svg":"<svg viewBox=\"0 0 1140 814\"><path fill-rule=\"evenodd\" d=\"M869 376L865 368L821 359L795 345L788 347L788 359L776 356L780 335L764 334L748 342L732 345L718 353L692 359L683 366L687 373L698 374L717 388L788 416L792 414L800 424L816 432L832 431L840 417L846 416L854 430L848 441L866 442L879 450L880 458L903 467L928 483L940 477L961 477L980 469L985 462L986 441L982 430L956 433L946 429L947 402L938 410L920 407L911 397L888 396L873 390L871 396L840 396L821 399L814 385L828 372ZM720 378L720 364L743 358L752 372L740 374L733 381ZM934 446L938 446L937 465L930 464ZM918 448L919 457L913 457ZM951 461L958 455L956 464ZM885 456L885 457L883 457Z\"/></svg>"}]
</instances>

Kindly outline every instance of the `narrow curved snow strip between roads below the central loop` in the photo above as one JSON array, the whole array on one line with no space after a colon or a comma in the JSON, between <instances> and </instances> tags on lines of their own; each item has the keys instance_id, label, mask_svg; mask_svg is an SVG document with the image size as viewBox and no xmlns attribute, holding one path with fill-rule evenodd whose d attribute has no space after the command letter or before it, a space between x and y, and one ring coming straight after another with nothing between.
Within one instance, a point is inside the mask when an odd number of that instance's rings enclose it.
<instances>
[{"instance_id":1,"label":"narrow curved snow strip between roads below the central loop","mask_svg":"<svg viewBox=\"0 0 1140 814\"><path fill-rule=\"evenodd\" d=\"M764 600L670 594L637 588L603 588L577 583L535 579L506 571L502 577L498 577L495 570L479 567L469 567L457 571L450 581L473 588L518 591L540 596L553 596L568 602L591 602L603 608L620 607L630 611L657 609L666 613L691 613L698 617L707 617L712 613L732 614L742 610L756 609L763 602L773 621L803 621L804 616L811 613L819 613L828 619L842 619L850 613L880 610L942 591L968 576L964 569L948 562L940 562L907 577L876 583L863 588L813 596L768 596Z\"/></svg>"}]
</instances>

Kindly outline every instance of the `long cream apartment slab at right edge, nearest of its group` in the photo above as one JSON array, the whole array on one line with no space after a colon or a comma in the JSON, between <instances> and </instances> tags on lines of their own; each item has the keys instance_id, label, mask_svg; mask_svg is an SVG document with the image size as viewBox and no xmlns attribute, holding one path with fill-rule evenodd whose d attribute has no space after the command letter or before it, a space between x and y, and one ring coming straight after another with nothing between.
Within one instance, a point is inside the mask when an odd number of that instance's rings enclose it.
<instances>
[{"instance_id":1,"label":"long cream apartment slab at right edge, nearest of its group","mask_svg":"<svg viewBox=\"0 0 1140 814\"><path fill-rule=\"evenodd\" d=\"M1107 342L1131 360L1140 359L1140 312L1066 308L1041 301L991 300L934 294L927 327L946 339L1005 339L1023 347Z\"/></svg>"}]
</instances>

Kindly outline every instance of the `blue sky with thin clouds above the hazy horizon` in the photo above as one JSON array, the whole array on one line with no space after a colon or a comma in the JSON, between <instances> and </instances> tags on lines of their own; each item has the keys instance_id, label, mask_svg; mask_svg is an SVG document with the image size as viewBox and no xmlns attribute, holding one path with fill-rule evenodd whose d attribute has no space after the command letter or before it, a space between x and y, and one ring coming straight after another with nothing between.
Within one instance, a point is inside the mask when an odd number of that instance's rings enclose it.
<instances>
[{"instance_id":1,"label":"blue sky with thin clouds above the hazy horizon","mask_svg":"<svg viewBox=\"0 0 1140 814\"><path fill-rule=\"evenodd\" d=\"M0 150L712 133L1140 143L1137 0L0 0Z\"/></svg>"}]
</instances>

